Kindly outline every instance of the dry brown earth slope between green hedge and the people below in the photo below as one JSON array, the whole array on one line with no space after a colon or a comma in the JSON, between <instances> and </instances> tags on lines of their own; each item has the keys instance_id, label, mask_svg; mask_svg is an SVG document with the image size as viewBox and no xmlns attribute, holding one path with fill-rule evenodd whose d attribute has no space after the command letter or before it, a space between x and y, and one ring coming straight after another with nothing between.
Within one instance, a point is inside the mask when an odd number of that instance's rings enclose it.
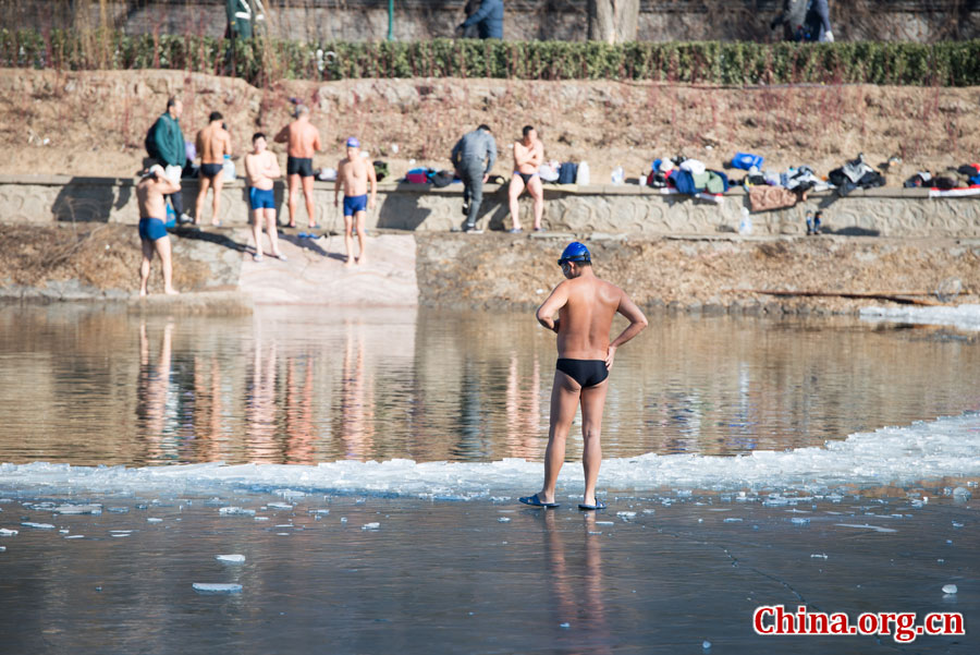
<instances>
[{"instance_id":1,"label":"dry brown earth slope between green hedge and the people below","mask_svg":"<svg viewBox=\"0 0 980 655\"><path fill-rule=\"evenodd\" d=\"M295 99L314 108L323 134L316 166L335 166L343 140L356 134L393 174L414 165L448 168L455 141L481 122L499 140L497 172L510 172L510 144L532 124L549 159L588 161L593 182L620 165L639 175L663 155L721 167L751 151L767 167L809 163L825 174L863 151L875 165L901 157L889 171L889 184L898 185L916 170L956 167L980 153L978 88L416 78L282 81L260 89L174 71L3 70L0 145L8 156L0 173L130 177L171 94L185 101L188 141L218 110L241 153L255 131L284 125ZM282 146L273 149L284 158Z\"/></svg>"}]
</instances>

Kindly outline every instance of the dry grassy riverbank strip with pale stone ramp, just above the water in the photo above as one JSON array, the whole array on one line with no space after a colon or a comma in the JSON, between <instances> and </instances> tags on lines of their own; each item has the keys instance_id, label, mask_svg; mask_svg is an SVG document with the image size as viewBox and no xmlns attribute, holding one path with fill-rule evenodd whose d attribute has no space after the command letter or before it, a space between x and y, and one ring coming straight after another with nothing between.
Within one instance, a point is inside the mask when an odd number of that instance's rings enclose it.
<instances>
[{"instance_id":1,"label":"dry grassy riverbank strip with pale stone ramp, just above the water","mask_svg":"<svg viewBox=\"0 0 980 655\"><path fill-rule=\"evenodd\" d=\"M0 225L0 239L5 244L0 252L0 298L134 299L140 251L133 226ZM368 248L383 256L351 270L343 267L342 239L301 239L295 231L284 230L283 247L289 248L284 252L296 255L289 263L267 262L264 266L282 268L269 268L268 274L256 272L254 250L243 228L175 230L171 239L177 289L185 294L236 292L258 303L529 308L561 281L554 260L572 240L588 244L597 274L622 286L651 311L854 314L869 305L898 303L834 294L936 302L936 290L952 292L946 300L957 304L980 300L980 240L976 239L381 231L371 234ZM286 298L291 279L299 276L309 291ZM343 276L348 277L340 280ZM316 279L336 280L338 289L357 286L359 295L318 295L316 287L323 284ZM275 286L284 289L281 301ZM159 293L159 287L155 267L151 293Z\"/></svg>"}]
</instances>

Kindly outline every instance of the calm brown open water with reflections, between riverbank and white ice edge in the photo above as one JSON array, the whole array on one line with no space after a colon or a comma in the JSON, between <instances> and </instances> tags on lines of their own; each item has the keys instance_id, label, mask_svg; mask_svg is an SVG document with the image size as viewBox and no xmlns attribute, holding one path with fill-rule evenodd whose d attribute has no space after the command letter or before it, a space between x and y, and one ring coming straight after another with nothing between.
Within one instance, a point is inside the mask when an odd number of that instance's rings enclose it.
<instances>
[{"instance_id":1,"label":"calm brown open water with reflections, between riverbank and white ice edge","mask_svg":"<svg viewBox=\"0 0 980 655\"><path fill-rule=\"evenodd\" d=\"M554 359L530 314L5 306L0 462L540 461ZM604 456L821 445L978 410L978 374L945 330L654 315L620 351Z\"/></svg>"}]
</instances>

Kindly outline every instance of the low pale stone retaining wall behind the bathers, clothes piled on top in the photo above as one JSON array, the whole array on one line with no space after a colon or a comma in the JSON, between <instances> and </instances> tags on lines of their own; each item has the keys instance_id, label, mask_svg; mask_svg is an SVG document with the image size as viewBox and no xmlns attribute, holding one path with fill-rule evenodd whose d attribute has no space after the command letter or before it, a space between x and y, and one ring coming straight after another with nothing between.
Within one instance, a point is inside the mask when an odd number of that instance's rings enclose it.
<instances>
[{"instance_id":1,"label":"low pale stone retaining wall behind the bathers, clothes piled on top","mask_svg":"<svg viewBox=\"0 0 980 655\"><path fill-rule=\"evenodd\" d=\"M184 181L184 207L193 209L197 194L195 180ZM333 183L314 187L318 219L324 229L341 229L340 210L333 207ZM275 185L281 220L286 214L284 187ZM665 196L636 185L546 186L544 225L549 231L613 234L714 234L736 231L747 197L734 189L718 205ZM510 227L506 189L490 184L485 189L480 223L490 229ZM370 229L449 231L461 225L462 185L445 189L427 185L383 183L378 207L368 215ZM814 194L791 209L751 215L752 233L760 235L800 234L808 209L822 208L826 231L865 236L980 236L980 198L930 199L924 190L875 189L858 191L841 198ZM522 221L530 226L530 199L522 198ZM248 208L242 180L225 185L222 194L222 225L245 225ZM138 221L135 181L117 178L71 178L64 175L0 175L0 221L50 223L51 221L98 221L135 225ZM210 203L204 222L210 221ZM302 206L297 219L306 226Z\"/></svg>"}]
</instances>

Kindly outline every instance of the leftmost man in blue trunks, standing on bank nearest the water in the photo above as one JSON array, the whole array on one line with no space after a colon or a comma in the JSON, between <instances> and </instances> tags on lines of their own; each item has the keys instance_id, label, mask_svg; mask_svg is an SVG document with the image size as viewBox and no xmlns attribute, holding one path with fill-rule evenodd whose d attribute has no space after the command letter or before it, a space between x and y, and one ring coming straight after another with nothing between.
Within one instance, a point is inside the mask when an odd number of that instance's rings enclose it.
<instances>
[{"instance_id":1,"label":"leftmost man in blue trunks, standing on bank nearest the water","mask_svg":"<svg viewBox=\"0 0 980 655\"><path fill-rule=\"evenodd\" d=\"M155 163L136 184L136 202L139 205L139 244L143 262L139 264L139 295L146 295L150 262L156 252L163 268L163 293L175 295L173 266L171 264L170 235L167 234L167 201L163 196L181 192L179 182L167 178L163 167Z\"/></svg>"}]
</instances>

